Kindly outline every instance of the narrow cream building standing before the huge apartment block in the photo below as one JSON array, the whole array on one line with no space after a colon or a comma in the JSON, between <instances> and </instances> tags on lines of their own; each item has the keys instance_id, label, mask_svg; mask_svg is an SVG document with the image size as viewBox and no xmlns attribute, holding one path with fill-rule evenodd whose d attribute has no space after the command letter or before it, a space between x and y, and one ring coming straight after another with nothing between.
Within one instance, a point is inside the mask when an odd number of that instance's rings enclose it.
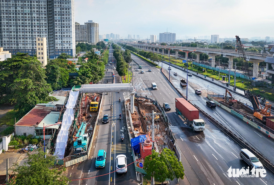
<instances>
[{"instance_id":1,"label":"narrow cream building standing before the huge apartment block","mask_svg":"<svg viewBox=\"0 0 274 185\"><path fill-rule=\"evenodd\" d=\"M37 58L42 63L42 66L47 65L47 38L36 37Z\"/></svg>"}]
</instances>

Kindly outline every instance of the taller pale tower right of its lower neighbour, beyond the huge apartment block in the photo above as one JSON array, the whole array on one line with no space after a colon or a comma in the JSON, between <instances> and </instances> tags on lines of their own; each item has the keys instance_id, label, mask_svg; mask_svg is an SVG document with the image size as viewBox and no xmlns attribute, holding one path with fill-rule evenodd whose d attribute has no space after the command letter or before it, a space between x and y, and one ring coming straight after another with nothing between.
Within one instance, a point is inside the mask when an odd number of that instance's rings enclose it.
<instances>
[{"instance_id":1,"label":"taller pale tower right of its lower neighbour, beyond the huge apartment block","mask_svg":"<svg viewBox=\"0 0 274 185\"><path fill-rule=\"evenodd\" d=\"M99 24L91 20L85 22L85 25L87 25L87 42L97 44L99 42Z\"/></svg>"}]
</instances>

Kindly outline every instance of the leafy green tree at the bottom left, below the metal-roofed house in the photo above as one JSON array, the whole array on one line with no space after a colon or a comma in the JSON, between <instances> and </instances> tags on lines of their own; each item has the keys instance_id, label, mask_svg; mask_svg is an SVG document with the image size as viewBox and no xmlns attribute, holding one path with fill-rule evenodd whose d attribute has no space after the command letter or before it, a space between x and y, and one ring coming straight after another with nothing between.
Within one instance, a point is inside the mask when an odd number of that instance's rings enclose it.
<instances>
[{"instance_id":1,"label":"leafy green tree at the bottom left, below the metal-roofed house","mask_svg":"<svg viewBox=\"0 0 274 185\"><path fill-rule=\"evenodd\" d=\"M47 155L45 158L45 155L42 149L32 155L27 153L27 162L22 166L15 163L10 169L16 175L7 184L66 185L70 180L63 175L65 167L55 168L56 156Z\"/></svg>"}]
</instances>

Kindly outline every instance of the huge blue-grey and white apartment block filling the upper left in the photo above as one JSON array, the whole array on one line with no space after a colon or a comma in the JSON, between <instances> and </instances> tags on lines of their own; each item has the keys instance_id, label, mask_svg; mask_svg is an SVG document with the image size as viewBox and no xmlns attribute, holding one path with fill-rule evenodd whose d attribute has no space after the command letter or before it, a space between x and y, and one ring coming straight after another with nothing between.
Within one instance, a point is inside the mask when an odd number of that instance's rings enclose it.
<instances>
[{"instance_id":1,"label":"huge blue-grey and white apartment block filling the upper left","mask_svg":"<svg viewBox=\"0 0 274 185\"><path fill-rule=\"evenodd\" d=\"M47 55L75 56L74 0L1 1L0 43L5 51L35 55L36 37L47 37Z\"/></svg>"}]
</instances>

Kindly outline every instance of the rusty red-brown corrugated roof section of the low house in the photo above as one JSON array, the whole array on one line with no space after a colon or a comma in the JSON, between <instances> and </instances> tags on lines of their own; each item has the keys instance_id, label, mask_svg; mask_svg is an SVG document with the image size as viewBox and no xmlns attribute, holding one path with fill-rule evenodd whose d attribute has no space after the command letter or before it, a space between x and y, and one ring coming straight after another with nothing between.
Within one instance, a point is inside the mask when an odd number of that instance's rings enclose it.
<instances>
[{"instance_id":1,"label":"rusty red-brown corrugated roof section of the low house","mask_svg":"<svg viewBox=\"0 0 274 185\"><path fill-rule=\"evenodd\" d=\"M35 106L16 123L16 126L35 126L37 122L39 124L52 110L53 107Z\"/></svg>"}]
</instances>

